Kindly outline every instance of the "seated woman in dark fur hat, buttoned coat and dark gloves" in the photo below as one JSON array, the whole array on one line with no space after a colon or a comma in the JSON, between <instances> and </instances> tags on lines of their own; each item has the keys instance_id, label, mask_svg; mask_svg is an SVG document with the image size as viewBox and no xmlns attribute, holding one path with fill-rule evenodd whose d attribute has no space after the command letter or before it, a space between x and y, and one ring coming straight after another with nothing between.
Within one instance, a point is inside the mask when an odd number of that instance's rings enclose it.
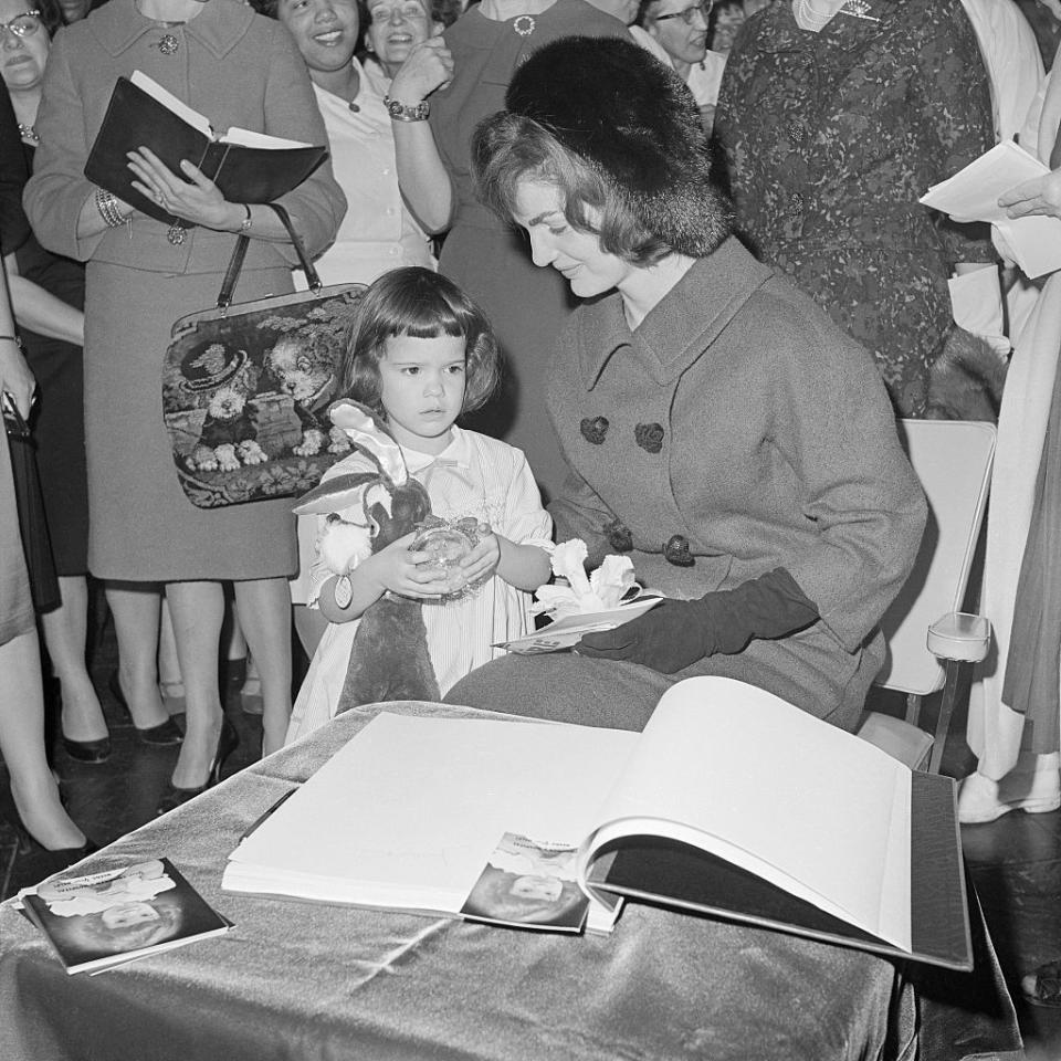
<instances>
[{"instance_id":1,"label":"seated woman in dark fur hat, buttoned coat and dark gloves","mask_svg":"<svg viewBox=\"0 0 1061 1061\"><path fill-rule=\"evenodd\" d=\"M557 538L629 554L668 599L447 698L640 729L718 674L852 729L925 521L871 358L729 234L695 103L642 49L549 44L506 104L476 132L480 189L586 300L547 377Z\"/></svg>"}]
</instances>

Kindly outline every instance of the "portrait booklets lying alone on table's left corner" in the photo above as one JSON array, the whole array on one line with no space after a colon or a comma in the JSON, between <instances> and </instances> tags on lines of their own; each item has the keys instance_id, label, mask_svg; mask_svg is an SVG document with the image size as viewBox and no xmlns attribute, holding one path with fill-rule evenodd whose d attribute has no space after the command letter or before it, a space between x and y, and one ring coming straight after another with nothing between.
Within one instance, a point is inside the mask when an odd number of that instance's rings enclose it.
<instances>
[{"instance_id":1,"label":"portrait booklets lying alone on table's left corner","mask_svg":"<svg viewBox=\"0 0 1061 1061\"><path fill-rule=\"evenodd\" d=\"M67 973L98 973L232 927L169 859L60 876L18 897Z\"/></svg>"}]
</instances>

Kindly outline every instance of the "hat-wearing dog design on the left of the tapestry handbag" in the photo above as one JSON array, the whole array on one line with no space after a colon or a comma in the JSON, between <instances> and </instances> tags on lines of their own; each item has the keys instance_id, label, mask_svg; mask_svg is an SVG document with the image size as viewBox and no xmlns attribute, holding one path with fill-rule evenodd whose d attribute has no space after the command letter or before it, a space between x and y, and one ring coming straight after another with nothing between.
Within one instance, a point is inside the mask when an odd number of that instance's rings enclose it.
<instances>
[{"instance_id":1,"label":"hat-wearing dog design on the left of the tapestry handbag","mask_svg":"<svg viewBox=\"0 0 1061 1061\"><path fill-rule=\"evenodd\" d=\"M182 366L182 389L206 407L202 429L185 464L191 472L234 472L245 464L262 464L266 456L258 443L250 401L258 370L245 350L211 343L193 351Z\"/></svg>"}]
</instances>

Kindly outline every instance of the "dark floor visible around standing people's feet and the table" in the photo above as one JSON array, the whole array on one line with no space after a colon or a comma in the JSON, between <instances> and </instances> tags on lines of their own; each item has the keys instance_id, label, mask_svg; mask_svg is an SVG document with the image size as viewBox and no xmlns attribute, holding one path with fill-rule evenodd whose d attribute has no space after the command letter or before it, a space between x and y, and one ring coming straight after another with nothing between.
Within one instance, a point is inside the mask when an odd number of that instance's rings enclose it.
<instances>
[{"instance_id":1,"label":"dark floor visible around standing people's feet and the table","mask_svg":"<svg viewBox=\"0 0 1061 1061\"><path fill-rule=\"evenodd\" d=\"M107 677L117 661L113 632L97 624L93 679L102 690L114 754L101 766L70 759L56 744L54 766L73 818L97 843L107 843L154 817L155 805L169 778L176 749L151 749L136 740L132 723L118 710ZM301 661L304 666L305 661ZM301 668L300 668L301 669ZM225 710L240 733L240 746L227 773L253 763L261 750L261 723L240 708L238 674L224 682ZM901 712L893 694L878 694L874 707ZM926 723L936 704L925 705ZM965 746L964 713L956 713L943 771L962 777L975 766ZM42 876L41 855L20 844L11 822L7 776L0 764L0 897ZM1016 812L996 822L963 829L965 855L976 882L999 960L1016 1000L1018 1017L1033 1061L1061 1061L1061 1009L1032 1006L1020 998L1023 973L1061 957L1061 811Z\"/></svg>"}]
</instances>

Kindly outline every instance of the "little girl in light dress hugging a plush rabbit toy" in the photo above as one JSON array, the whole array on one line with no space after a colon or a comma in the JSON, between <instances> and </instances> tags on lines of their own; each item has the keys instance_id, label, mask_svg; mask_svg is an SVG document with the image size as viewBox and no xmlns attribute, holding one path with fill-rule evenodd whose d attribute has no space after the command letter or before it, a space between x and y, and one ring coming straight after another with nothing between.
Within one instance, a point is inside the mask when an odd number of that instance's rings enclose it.
<instances>
[{"instance_id":1,"label":"little girl in light dress hugging a plush rabbit toy","mask_svg":"<svg viewBox=\"0 0 1061 1061\"><path fill-rule=\"evenodd\" d=\"M366 292L344 367L344 393L379 413L401 447L409 474L443 519L487 524L461 563L477 587L441 599L448 577L411 551L409 534L361 559L343 579L319 553L309 603L330 620L298 693L287 743L336 714L357 621L388 590L423 605L428 650L439 687L447 690L502 654L492 648L530 629L530 590L549 577L553 522L519 450L455 424L479 408L497 380L497 345L482 311L451 281L419 266L386 273ZM330 468L325 480L372 470L359 451ZM360 502L338 515L363 522ZM318 516L319 530L326 516Z\"/></svg>"}]
</instances>

